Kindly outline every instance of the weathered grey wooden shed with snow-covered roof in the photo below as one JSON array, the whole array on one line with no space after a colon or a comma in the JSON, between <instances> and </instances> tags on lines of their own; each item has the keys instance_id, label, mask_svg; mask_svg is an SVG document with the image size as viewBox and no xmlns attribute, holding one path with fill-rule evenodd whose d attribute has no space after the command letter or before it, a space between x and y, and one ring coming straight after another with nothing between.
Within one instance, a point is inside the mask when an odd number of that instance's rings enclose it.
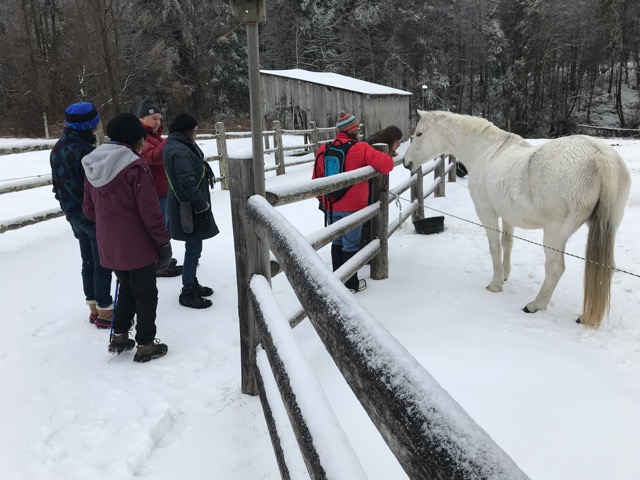
<instances>
[{"instance_id":1,"label":"weathered grey wooden shed with snow-covered roof","mask_svg":"<svg viewBox=\"0 0 640 480\"><path fill-rule=\"evenodd\" d=\"M340 110L354 114L365 135L396 125L409 137L411 93L337 73L302 69L260 70L267 128L280 120L284 128L305 129L310 121L333 127Z\"/></svg>"}]
</instances>

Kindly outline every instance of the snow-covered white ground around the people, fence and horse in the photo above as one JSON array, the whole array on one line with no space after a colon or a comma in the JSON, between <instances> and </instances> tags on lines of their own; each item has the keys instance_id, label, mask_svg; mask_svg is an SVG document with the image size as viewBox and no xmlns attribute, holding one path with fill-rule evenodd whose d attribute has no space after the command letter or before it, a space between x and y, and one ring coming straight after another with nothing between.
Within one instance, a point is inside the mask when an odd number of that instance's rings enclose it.
<instances>
[{"instance_id":1,"label":"snow-covered white ground around the people, fence and horse","mask_svg":"<svg viewBox=\"0 0 640 480\"><path fill-rule=\"evenodd\" d=\"M617 266L631 274L615 274L599 330L574 322L582 260L566 258L547 311L525 314L543 278L543 249L516 240L511 278L489 293L484 231L453 216L438 235L405 224L390 239L389 278L368 279L355 297L534 480L640 478L640 141L606 141L634 181L616 246ZM231 152L250 145L232 142ZM198 143L215 153L214 141ZM48 173L48 155L0 156L0 185ZM308 179L311 164L274 175L267 186ZM391 185L406 176L397 168ZM446 198L428 206L477 221L466 178L446 187ZM213 307L181 307L180 279L158 279L158 337L169 353L147 364L109 355L108 332L88 323L64 218L0 235L0 479L279 478L259 400L240 391L229 194L217 186L212 198L221 234L205 242L198 278L215 289ZM50 187L0 195L0 220L56 205ZM305 234L322 226L315 200L281 211ZM540 231L516 235L542 239ZM567 251L581 256L585 237L583 227ZM173 248L181 260L183 244ZM319 255L330 264L328 248ZM284 276L273 289L291 309ZM310 323L294 332L369 478L407 478Z\"/></svg>"}]
</instances>

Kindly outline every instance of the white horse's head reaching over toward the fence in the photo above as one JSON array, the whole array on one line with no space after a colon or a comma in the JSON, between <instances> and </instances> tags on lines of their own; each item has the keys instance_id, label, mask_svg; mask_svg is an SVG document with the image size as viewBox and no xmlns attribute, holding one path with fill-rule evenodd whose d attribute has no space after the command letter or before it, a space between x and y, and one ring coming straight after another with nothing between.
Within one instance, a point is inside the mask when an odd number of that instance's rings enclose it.
<instances>
[{"instance_id":1,"label":"white horse's head reaching over toward the fence","mask_svg":"<svg viewBox=\"0 0 640 480\"><path fill-rule=\"evenodd\" d=\"M438 118L443 113L418 110L420 121L411 138L411 145L404 154L405 168L415 170L441 153L449 153L445 151L445 139L437 125Z\"/></svg>"}]
</instances>

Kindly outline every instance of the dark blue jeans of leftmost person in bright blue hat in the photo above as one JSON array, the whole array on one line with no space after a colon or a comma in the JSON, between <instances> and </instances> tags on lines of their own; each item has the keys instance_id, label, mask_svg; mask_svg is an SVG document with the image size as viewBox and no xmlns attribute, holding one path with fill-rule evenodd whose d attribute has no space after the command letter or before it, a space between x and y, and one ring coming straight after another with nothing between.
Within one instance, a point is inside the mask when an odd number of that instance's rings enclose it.
<instances>
[{"instance_id":1,"label":"dark blue jeans of leftmost person in bright blue hat","mask_svg":"<svg viewBox=\"0 0 640 480\"><path fill-rule=\"evenodd\" d=\"M113 303L111 297L111 270L100 265L96 226L82 225L70 221L73 236L80 243L82 257L82 288L87 300L95 300L100 308L108 308Z\"/></svg>"}]
</instances>

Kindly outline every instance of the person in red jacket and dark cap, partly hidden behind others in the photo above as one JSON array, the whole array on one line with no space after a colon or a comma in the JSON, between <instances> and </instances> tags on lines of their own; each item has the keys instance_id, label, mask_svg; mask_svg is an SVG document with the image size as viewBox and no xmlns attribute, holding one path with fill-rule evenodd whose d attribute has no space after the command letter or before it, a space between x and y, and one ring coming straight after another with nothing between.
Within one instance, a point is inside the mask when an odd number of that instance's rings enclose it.
<instances>
[{"instance_id":1,"label":"person in red jacket and dark cap, partly hidden behind others","mask_svg":"<svg viewBox=\"0 0 640 480\"><path fill-rule=\"evenodd\" d=\"M167 139L162 138L162 112L160 112L160 107L158 107L153 100L145 97L140 102L140 105L138 105L138 118L140 119L142 127L147 132L140 156L144 158L144 161L149 165L149 171L153 177L153 185L158 195L158 201L160 202L162 216L164 217L164 222L167 224L167 230L171 231L169 213L167 211L169 181L167 180L167 174L164 171L164 162L162 160L164 146L167 143ZM178 265L178 261L175 258L171 259L167 268L156 272L157 277L177 277L178 275L182 275L182 266Z\"/></svg>"}]
</instances>

